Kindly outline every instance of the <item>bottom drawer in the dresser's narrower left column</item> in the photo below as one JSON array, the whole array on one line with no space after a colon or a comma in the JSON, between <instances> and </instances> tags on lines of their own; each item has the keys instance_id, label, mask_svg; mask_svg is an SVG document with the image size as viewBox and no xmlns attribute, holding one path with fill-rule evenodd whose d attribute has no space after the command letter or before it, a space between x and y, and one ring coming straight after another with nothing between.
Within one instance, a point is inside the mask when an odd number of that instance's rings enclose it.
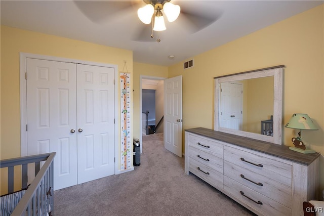
<instances>
[{"instance_id":1,"label":"bottom drawer in the dresser's narrower left column","mask_svg":"<svg viewBox=\"0 0 324 216\"><path fill-rule=\"evenodd\" d=\"M223 174L215 169L190 159L189 171L215 188L223 188Z\"/></svg>"}]
</instances>

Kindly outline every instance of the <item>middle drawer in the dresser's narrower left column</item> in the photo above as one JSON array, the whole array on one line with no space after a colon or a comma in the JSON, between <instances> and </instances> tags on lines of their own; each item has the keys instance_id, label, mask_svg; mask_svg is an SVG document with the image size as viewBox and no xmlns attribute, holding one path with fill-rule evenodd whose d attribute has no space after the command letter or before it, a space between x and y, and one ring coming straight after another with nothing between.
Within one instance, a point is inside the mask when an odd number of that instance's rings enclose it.
<instances>
[{"instance_id":1,"label":"middle drawer in the dresser's narrower left column","mask_svg":"<svg viewBox=\"0 0 324 216\"><path fill-rule=\"evenodd\" d=\"M206 153L205 151L189 146L189 157L190 159L196 160L200 163L203 163L206 166L215 169L220 173L223 173L224 160L219 157L216 157L215 155Z\"/></svg>"}]
</instances>

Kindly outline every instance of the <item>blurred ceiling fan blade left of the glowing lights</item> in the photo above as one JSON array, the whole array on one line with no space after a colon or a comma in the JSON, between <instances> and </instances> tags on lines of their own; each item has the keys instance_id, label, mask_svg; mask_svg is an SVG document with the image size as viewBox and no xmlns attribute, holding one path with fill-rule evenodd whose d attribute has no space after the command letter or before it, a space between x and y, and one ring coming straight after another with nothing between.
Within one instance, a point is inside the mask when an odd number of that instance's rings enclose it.
<instances>
[{"instance_id":1,"label":"blurred ceiling fan blade left of the glowing lights","mask_svg":"<svg viewBox=\"0 0 324 216\"><path fill-rule=\"evenodd\" d=\"M73 1L77 8L92 22L103 23L117 15L137 13L143 1ZM144 4L145 5L145 4Z\"/></svg>"}]
</instances>

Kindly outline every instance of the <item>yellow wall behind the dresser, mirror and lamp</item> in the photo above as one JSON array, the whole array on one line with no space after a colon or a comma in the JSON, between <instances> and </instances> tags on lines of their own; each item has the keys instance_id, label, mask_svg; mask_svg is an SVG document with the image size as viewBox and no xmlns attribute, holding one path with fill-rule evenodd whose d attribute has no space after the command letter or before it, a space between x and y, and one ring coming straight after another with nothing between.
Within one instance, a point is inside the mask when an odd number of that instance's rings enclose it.
<instances>
[{"instance_id":1,"label":"yellow wall behind the dresser, mirror and lamp","mask_svg":"<svg viewBox=\"0 0 324 216\"><path fill-rule=\"evenodd\" d=\"M293 113L308 113L318 131L303 139L324 153L324 9L323 5L263 28L203 54L194 67L169 67L169 77L183 75L183 129L213 128L213 77L285 64L284 122ZM284 144L293 146L294 129L284 129ZM324 189L324 157L320 158L320 191ZM321 194L321 193L320 193Z\"/></svg>"}]
</instances>

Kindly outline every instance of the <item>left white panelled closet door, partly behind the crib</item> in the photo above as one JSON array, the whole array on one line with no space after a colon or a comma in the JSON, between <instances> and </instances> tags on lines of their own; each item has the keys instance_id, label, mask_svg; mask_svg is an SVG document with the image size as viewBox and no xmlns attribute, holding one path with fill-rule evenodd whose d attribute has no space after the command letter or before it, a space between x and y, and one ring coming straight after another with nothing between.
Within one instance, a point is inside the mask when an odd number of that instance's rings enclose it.
<instances>
[{"instance_id":1,"label":"left white panelled closet door, partly behind the crib","mask_svg":"<svg viewBox=\"0 0 324 216\"><path fill-rule=\"evenodd\" d=\"M27 152L56 152L55 190L77 184L76 66L27 59Z\"/></svg>"}]
</instances>

